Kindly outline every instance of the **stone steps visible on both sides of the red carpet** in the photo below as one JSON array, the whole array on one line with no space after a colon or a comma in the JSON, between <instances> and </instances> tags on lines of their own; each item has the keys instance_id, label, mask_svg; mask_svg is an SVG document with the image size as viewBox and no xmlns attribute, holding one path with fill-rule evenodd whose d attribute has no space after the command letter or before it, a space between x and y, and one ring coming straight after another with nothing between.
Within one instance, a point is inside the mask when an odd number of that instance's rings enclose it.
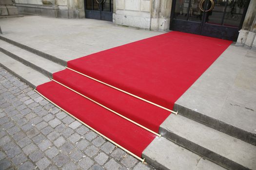
<instances>
[{"instance_id":1,"label":"stone steps visible on both sides of the red carpet","mask_svg":"<svg viewBox=\"0 0 256 170\"><path fill-rule=\"evenodd\" d=\"M66 61L0 36L0 66L31 87L50 81ZM142 157L164 170L256 170L255 138L230 136L226 126L212 126L181 113L171 114ZM187 112L187 111L186 111ZM184 115L184 116L182 116ZM186 116L186 117L185 117ZM214 162L214 163L213 163Z\"/></svg>"}]
</instances>

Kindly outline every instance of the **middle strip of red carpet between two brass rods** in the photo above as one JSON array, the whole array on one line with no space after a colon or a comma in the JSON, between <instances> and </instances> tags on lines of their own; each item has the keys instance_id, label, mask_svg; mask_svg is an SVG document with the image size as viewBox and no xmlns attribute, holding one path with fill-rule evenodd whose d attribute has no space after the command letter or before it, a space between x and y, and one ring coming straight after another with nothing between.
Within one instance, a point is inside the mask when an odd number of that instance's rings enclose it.
<instances>
[{"instance_id":1,"label":"middle strip of red carpet between two brass rods","mask_svg":"<svg viewBox=\"0 0 256 170\"><path fill-rule=\"evenodd\" d=\"M65 69L53 79L158 133L170 112Z\"/></svg>"}]
</instances>

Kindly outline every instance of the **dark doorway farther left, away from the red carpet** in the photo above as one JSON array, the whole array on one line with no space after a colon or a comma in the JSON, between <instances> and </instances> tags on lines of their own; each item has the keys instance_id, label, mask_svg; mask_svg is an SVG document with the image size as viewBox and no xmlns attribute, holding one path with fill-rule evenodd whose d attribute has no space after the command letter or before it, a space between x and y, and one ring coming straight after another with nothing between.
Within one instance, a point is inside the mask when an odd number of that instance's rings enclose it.
<instances>
[{"instance_id":1,"label":"dark doorway farther left, away from the red carpet","mask_svg":"<svg viewBox=\"0 0 256 170\"><path fill-rule=\"evenodd\" d=\"M113 20L113 0L84 0L85 17Z\"/></svg>"}]
</instances>

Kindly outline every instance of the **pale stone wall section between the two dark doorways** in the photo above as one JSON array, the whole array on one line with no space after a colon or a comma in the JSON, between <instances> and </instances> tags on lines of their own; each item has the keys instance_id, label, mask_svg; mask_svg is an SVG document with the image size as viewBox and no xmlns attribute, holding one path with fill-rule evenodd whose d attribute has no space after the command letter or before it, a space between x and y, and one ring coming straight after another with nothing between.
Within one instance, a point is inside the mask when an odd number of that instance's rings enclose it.
<instances>
[{"instance_id":1,"label":"pale stone wall section between the two dark doorways","mask_svg":"<svg viewBox=\"0 0 256 170\"><path fill-rule=\"evenodd\" d=\"M148 30L169 30L172 0L115 0L113 22Z\"/></svg>"}]
</instances>

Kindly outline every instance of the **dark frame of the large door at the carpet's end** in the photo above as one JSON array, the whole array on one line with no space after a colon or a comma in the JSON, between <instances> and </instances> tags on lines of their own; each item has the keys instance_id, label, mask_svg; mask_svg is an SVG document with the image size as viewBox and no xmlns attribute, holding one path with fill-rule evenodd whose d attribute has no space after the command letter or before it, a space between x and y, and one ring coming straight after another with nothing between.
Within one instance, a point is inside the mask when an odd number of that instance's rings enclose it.
<instances>
[{"instance_id":1,"label":"dark frame of the large door at the carpet's end","mask_svg":"<svg viewBox=\"0 0 256 170\"><path fill-rule=\"evenodd\" d=\"M245 4L244 12L243 12L243 15L241 17L241 21L239 23L239 26L238 27L231 27L231 26L224 26L224 25L206 23L205 22L206 21L206 12L203 12L203 18L202 18L201 22L189 21L188 20L189 14L187 15L187 20L174 19L176 1L177 0L172 1L170 30L172 29L172 30L177 30L177 31L185 32L185 33L212 36L212 37L221 38L221 39L229 39L229 40L232 40L232 41L237 40L237 37L238 37L238 34L239 34L238 31L242 28L244 18L245 18L245 15L247 13L249 3L250 3L250 0L247 0L247 3ZM189 6L191 5L191 1L192 0L189 0ZM207 1L209 1L209 0L207 0ZM221 23L222 24L223 24L223 20L225 19L225 12L226 12L226 9L227 9L228 1L229 0L226 1L225 11L223 11L223 16L221 18ZM182 30L180 30L180 28L182 28ZM212 29L212 31L211 31L211 29ZM231 30L232 33L234 33L234 34L231 35L228 32L225 32L227 29ZM218 34L217 32L215 33L214 32L215 30L218 30L218 31L221 30L222 34Z\"/></svg>"}]
</instances>

